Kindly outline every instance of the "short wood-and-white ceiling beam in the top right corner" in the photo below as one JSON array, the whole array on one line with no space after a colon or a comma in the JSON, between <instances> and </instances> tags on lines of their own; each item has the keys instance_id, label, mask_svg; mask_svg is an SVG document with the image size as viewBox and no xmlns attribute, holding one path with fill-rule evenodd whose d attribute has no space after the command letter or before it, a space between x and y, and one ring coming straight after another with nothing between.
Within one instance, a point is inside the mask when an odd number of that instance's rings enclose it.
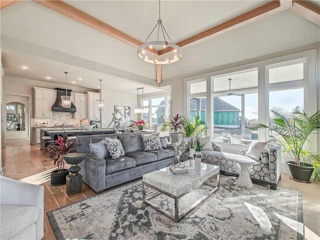
<instances>
[{"instance_id":1,"label":"short wood-and-white ceiling beam in the top right corner","mask_svg":"<svg viewBox=\"0 0 320 240\"><path fill-rule=\"evenodd\" d=\"M291 11L320 25L320 8L304 0L293 0Z\"/></svg>"}]
</instances>

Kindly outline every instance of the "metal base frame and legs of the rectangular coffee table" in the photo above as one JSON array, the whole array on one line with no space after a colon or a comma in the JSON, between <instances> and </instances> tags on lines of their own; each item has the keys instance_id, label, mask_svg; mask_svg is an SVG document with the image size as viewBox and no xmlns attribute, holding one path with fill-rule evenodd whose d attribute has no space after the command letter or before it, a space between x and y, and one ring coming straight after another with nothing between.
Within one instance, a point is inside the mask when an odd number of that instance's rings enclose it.
<instances>
[{"instance_id":1,"label":"metal base frame and legs of the rectangular coffee table","mask_svg":"<svg viewBox=\"0 0 320 240\"><path fill-rule=\"evenodd\" d=\"M212 182L209 182L213 177L216 177L216 182L217 184L212 184ZM198 188L201 185L209 185L214 187L209 194L202 196L199 200L197 200L190 209L185 210L184 212L179 214L179 198L181 198L182 196L184 196L185 194L189 193L190 191ZM154 190L158 191L155 194L152 194L150 196L146 197L146 192L145 192L145 186L151 187ZM190 189L188 189L187 191L183 192L182 194L175 196L172 195L171 193L168 193L166 191L163 191L162 189L159 189L158 187L155 187L149 183L146 183L142 180L142 198L143 198L143 202L147 203L148 205L150 205L152 208L154 208L155 210L161 212L163 215L165 215L166 217L170 218L171 220L178 222L183 216L185 216L186 214L188 214L190 211L192 211L195 207L197 207L199 204L201 204L206 198L208 198L209 196L211 196L217 189L219 189L220 187L220 174L219 172L217 172L216 174L208 177L207 179L203 180L200 184L198 184L197 186L194 186ZM166 212L164 212L159 206L153 204L152 202L150 202L149 200L160 195L160 194L165 194L171 198L174 199L174 215L170 215Z\"/></svg>"}]
</instances>

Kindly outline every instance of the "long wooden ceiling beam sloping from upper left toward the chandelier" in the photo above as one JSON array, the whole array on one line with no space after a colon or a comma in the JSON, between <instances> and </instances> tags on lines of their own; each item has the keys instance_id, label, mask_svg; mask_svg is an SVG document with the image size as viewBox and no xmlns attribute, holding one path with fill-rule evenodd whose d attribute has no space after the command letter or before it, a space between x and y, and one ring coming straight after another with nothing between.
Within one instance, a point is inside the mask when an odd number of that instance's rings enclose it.
<instances>
[{"instance_id":1,"label":"long wooden ceiling beam sloping from upper left toward the chandelier","mask_svg":"<svg viewBox=\"0 0 320 240\"><path fill-rule=\"evenodd\" d=\"M90 16L89 14L86 14L83 11L80 11L73 6L66 4L63 1L60 0L34 0L34 2L41 4L42 6L45 6L53 11L56 11L62 15L65 15L73 20L76 20L84 25L87 25L97 31L100 31L106 35L109 35L115 39L118 39L120 41L123 41L129 45L132 45L134 47L140 46L142 44L141 41L135 39L132 36L129 36L128 34L125 34L124 32L94 18L93 16Z\"/></svg>"}]
</instances>

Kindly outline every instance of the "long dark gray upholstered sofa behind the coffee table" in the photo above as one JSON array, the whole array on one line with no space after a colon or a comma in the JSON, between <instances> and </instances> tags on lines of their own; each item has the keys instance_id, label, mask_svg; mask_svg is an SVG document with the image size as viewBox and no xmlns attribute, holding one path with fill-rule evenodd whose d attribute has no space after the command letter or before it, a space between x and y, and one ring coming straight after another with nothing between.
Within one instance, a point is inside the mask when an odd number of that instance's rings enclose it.
<instances>
[{"instance_id":1,"label":"long dark gray upholstered sofa behind the coffee table","mask_svg":"<svg viewBox=\"0 0 320 240\"><path fill-rule=\"evenodd\" d=\"M143 133L77 136L77 151L87 153L85 159L78 164L83 181L98 192L169 166L174 161L174 151L171 149L143 151L141 134ZM104 159L90 153L89 143L99 142L105 137L118 138L125 155L117 159Z\"/></svg>"}]
</instances>

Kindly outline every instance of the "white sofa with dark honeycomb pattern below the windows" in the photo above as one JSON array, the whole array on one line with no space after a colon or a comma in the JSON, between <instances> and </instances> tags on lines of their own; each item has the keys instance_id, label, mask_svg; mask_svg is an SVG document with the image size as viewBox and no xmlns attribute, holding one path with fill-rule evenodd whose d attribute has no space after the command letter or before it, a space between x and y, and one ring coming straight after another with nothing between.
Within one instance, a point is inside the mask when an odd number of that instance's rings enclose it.
<instances>
[{"instance_id":1,"label":"white sofa with dark honeycomb pattern below the windows","mask_svg":"<svg viewBox=\"0 0 320 240\"><path fill-rule=\"evenodd\" d=\"M181 141L189 143L191 138L182 138ZM201 161L220 167L220 171L226 174L239 175L240 165L236 158L251 159L245 156L248 148L242 149L239 154L222 152L220 147L212 142L213 150L202 150ZM183 153L182 161L187 160L189 151ZM254 159L255 160L255 159ZM270 185L271 189L276 189L277 182L281 174L281 147L279 145L268 144L267 149L261 152L261 158L249 167L249 174L253 181Z\"/></svg>"}]
</instances>

